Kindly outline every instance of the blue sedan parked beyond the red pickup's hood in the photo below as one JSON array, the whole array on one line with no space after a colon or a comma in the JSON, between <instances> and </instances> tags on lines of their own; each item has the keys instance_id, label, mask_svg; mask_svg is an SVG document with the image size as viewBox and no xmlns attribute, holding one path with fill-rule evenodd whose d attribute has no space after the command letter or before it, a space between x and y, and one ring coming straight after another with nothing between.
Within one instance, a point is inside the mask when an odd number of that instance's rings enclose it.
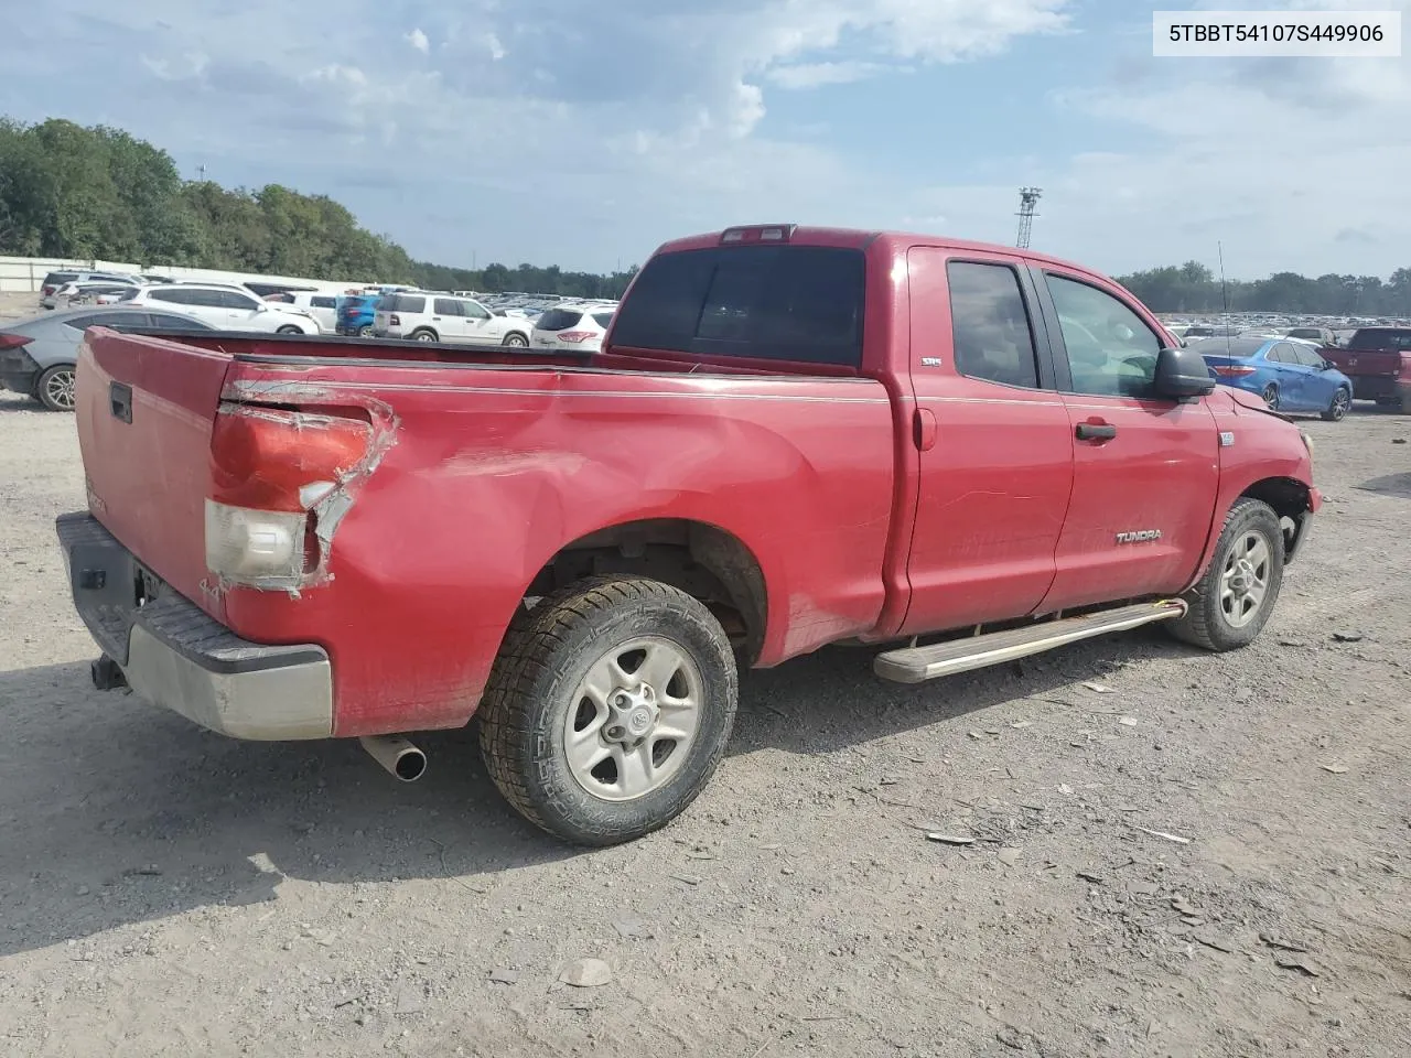
<instances>
[{"instance_id":1,"label":"blue sedan parked beyond the red pickup's hood","mask_svg":"<svg viewBox=\"0 0 1411 1058\"><path fill-rule=\"evenodd\" d=\"M1278 412L1340 422L1352 408L1352 379L1322 358L1311 341L1278 337L1192 341L1222 385L1259 394Z\"/></svg>"}]
</instances>

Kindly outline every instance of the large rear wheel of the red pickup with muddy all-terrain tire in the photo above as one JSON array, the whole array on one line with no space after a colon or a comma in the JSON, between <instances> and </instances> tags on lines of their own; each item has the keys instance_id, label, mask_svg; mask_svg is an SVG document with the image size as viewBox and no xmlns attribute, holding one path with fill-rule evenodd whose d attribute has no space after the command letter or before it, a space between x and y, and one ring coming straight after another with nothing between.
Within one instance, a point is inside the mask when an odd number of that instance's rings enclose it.
<instances>
[{"instance_id":1,"label":"large rear wheel of the red pickup with muddy all-terrain tire","mask_svg":"<svg viewBox=\"0 0 1411 1058\"><path fill-rule=\"evenodd\" d=\"M480 705L491 779L531 822L615 845L680 815L729 741L739 677L720 622L641 577L573 584L509 626Z\"/></svg>"}]
</instances>

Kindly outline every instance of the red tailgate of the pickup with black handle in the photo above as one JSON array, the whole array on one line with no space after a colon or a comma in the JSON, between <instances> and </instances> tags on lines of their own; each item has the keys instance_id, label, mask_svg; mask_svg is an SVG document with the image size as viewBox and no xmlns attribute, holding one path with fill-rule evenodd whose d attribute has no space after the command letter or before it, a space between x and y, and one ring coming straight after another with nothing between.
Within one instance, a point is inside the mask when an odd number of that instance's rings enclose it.
<instances>
[{"instance_id":1,"label":"red tailgate of the pickup with black handle","mask_svg":"<svg viewBox=\"0 0 1411 1058\"><path fill-rule=\"evenodd\" d=\"M78 429L89 511L206 612L210 432L231 358L92 327L80 346Z\"/></svg>"}]
</instances>

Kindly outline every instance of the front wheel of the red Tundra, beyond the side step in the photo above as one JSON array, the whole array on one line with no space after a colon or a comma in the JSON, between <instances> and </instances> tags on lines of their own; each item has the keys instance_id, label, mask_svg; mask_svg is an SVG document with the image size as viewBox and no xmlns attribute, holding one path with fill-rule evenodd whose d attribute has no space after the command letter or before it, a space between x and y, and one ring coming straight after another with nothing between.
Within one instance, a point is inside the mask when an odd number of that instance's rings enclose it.
<instances>
[{"instance_id":1,"label":"front wheel of the red Tundra, beyond the side step","mask_svg":"<svg viewBox=\"0 0 1411 1058\"><path fill-rule=\"evenodd\" d=\"M1263 501L1240 497L1225 516L1215 557L1185 594L1185 616L1168 621L1177 639L1206 650L1249 646L1264 629L1284 584L1284 532Z\"/></svg>"}]
</instances>

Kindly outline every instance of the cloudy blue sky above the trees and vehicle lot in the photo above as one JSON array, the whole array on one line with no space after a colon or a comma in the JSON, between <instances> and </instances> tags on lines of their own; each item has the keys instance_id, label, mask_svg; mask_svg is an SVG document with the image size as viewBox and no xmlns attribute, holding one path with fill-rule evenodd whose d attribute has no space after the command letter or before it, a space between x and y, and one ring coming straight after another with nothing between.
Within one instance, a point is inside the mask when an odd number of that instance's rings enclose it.
<instances>
[{"instance_id":1,"label":"cloudy blue sky above the trees and vehicle lot","mask_svg":"<svg viewBox=\"0 0 1411 1058\"><path fill-rule=\"evenodd\" d=\"M415 257L611 269L783 220L1125 272L1411 265L1411 59L1154 59L1149 0L47 0L0 113L327 193ZM1407 8L1411 0L1290 7ZM1411 20L1408 20L1411 23Z\"/></svg>"}]
</instances>

